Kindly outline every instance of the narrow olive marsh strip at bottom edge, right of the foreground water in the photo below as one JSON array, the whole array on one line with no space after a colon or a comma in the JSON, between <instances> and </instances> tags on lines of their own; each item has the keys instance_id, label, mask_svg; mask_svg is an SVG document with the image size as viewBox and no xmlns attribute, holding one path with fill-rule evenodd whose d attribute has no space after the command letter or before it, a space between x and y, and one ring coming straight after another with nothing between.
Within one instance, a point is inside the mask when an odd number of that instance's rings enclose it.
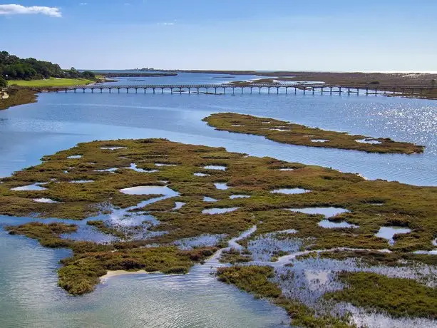
<instances>
[{"instance_id":1,"label":"narrow olive marsh strip at bottom edge, right of the foreground water","mask_svg":"<svg viewBox=\"0 0 437 328\"><path fill-rule=\"evenodd\" d=\"M272 267L257 265L245 267L220 267L217 277L221 282L232 284L257 298L269 298L279 307L283 307L292 318L292 324L298 327L354 327L346 317L330 315L316 316L315 312L304 304L282 295L281 289L269 281L274 275Z\"/></svg>"}]
</instances>

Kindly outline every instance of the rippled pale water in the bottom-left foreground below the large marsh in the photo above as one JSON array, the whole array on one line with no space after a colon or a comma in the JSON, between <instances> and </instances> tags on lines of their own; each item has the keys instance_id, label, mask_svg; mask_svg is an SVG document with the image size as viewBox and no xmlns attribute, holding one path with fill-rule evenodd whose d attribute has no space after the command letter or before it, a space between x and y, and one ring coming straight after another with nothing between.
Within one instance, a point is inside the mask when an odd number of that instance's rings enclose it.
<instances>
[{"instance_id":1,"label":"rippled pale water in the bottom-left foreground below the large marsh","mask_svg":"<svg viewBox=\"0 0 437 328\"><path fill-rule=\"evenodd\" d=\"M56 275L68 250L4 230L0 249L1 327L289 327L284 310L218 282L206 265L187 275L113 277L69 297Z\"/></svg>"}]
</instances>

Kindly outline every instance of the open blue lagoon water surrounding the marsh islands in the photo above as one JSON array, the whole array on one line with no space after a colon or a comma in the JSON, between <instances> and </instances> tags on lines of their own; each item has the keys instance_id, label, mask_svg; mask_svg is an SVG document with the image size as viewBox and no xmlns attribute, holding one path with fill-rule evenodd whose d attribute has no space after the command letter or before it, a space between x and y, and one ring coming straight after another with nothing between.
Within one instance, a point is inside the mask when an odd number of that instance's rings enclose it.
<instances>
[{"instance_id":1,"label":"open blue lagoon water surrounding the marsh islands","mask_svg":"<svg viewBox=\"0 0 437 328\"><path fill-rule=\"evenodd\" d=\"M129 78L119 83L221 83L219 75ZM249 79L252 76L233 79ZM133 81L144 80L144 81ZM202 118L233 111L332 130L426 145L421 155L381 155L281 145L259 136L216 131ZM324 165L366 178L437 185L437 102L356 95L235 96L143 93L45 93L38 103L0 111L0 176L39 163L78 142L168 138L183 143ZM0 217L2 224L20 219ZM284 311L217 282L208 267L188 275L110 278L96 292L69 297L56 286L58 260L34 240L0 230L1 327L279 327Z\"/></svg>"}]
</instances>

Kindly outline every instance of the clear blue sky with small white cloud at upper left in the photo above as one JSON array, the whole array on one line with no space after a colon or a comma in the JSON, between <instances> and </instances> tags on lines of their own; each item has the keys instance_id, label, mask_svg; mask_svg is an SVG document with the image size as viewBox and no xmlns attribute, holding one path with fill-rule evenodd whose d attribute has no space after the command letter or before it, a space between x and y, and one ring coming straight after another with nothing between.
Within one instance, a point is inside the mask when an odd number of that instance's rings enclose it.
<instances>
[{"instance_id":1,"label":"clear blue sky with small white cloud at upper left","mask_svg":"<svg viewBox=\"0 0 437 328\"><path fill-rule=\"evenodd\" d=\"M0 51L78 69L437 71L437 0L0 0Z\"/></svg>"}]
</instances>

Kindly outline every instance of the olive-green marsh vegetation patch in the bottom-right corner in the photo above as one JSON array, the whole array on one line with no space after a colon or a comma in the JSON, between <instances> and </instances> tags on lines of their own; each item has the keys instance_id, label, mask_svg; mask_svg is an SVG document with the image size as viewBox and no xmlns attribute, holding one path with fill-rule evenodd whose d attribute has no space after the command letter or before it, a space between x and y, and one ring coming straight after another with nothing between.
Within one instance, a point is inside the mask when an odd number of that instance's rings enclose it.
<instances>
[{"instance_id":1,"label":"olive-green marsh vegetation patch in the bottom-right corner","mask_svg":"<svg viewBox=\"0 0 437 328\"><path fill-rule=\"evenodd\" d=\"M370 272L343 272L339 279L349 287L325 294L325 297L351 302L357 307L384 310L395 317L437 319L436 288L423 286L414 280Z\"/></svg>"}]
</instances>

